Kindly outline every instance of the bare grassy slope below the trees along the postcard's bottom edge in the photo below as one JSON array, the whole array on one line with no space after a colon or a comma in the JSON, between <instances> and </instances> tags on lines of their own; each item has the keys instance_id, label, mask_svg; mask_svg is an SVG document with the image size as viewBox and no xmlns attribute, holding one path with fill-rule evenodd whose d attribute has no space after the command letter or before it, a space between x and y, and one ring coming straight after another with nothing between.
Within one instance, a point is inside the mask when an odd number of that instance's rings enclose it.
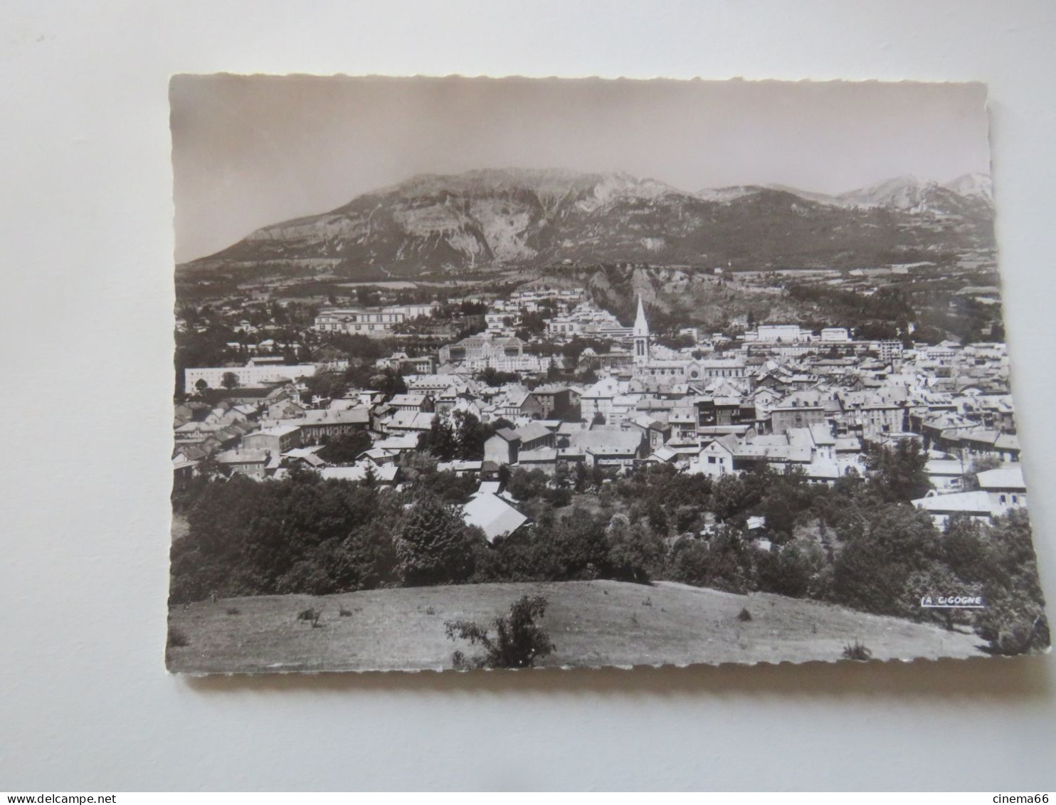
<instances>
[{"instance_id":1,"label":"bare grassy slope below the trees along the postcard's bottom edge","mask_svg":"<svg viewBox=\"0 0 1056 805\"><path fill-rule=\"evenodd\" d=\"M525 594L544 595L550 602L545 628L557 651L542 667L837 660L855 640L875 659L981 653L981 640L973 634L814 601L763 593L738 596L670 582L573 581L197 602L170 614L170 628L186 636L187 645L168 650L169 670L449 669L455 649L472 650L446 638L446 620L490 621ZM322 610L319 629L297 619L309 606ZM742 607L752 620L738 619ZM352 614L341 616L342 609Z\"/></svg>"}]
</instances>

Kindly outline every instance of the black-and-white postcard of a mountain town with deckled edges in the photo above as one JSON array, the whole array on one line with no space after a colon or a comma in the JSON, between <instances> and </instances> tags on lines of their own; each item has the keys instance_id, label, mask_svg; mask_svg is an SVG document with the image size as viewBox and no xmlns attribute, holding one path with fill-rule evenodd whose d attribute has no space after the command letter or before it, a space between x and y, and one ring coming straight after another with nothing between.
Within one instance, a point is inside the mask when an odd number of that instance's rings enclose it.
<instances>
[{"instance_id":1,"label":"black-and-white postcard of a mountain town with deckled edges","mask_svg":"<svg viewBox=\"0 0 1056 805\"><path fill-rule=\"evenodd\" d=\"M1048 650L984 86L170 97L170 671Z\"/></svg>"}]
</instances>

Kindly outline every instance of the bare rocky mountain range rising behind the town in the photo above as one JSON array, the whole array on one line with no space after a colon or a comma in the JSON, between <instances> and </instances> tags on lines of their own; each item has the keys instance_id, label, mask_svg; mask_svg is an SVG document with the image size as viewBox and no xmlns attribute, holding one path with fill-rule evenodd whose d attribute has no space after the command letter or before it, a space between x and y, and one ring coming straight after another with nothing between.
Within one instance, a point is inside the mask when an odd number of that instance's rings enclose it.
<instances>
[{"instance_id":1,"label":"bare rocky mountain range rising behind the town","mask_svg":"<svg viewBox=\"0 0 1056 805\"><path fill-rule=\"evenodd\" d=\"M892 248L991 244L992 208L981 186L894 180L823 196L774 187L690 193L625 173L422 175L331 212L258 229L183 268L289 263L350 277L413 277L564 260L795 264L851 252L868 261ZM937 216L945 219L938 227Z\"/></svg>"}]
</instances>

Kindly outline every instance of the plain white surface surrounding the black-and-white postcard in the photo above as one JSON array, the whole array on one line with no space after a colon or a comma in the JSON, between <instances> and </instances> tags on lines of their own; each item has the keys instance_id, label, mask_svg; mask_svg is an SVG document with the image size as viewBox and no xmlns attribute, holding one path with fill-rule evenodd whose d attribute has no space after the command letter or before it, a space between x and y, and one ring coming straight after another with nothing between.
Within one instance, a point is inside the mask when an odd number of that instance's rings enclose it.
<instances>
[{"instance_id":1,"label":"plain white surface surrounding the black-and-white postcard","mask_svg":"<svg viewBox=\"0 0 1056 805\"><path fill-rule=\"evenodd\" d=\"M1046 0L6 0L0 788L1052 790L1052 656L195 681L167 676L162 654L170 73L987 81L1015 392L1056 596L1054 41Z\"/></svg>"}]
</instances>

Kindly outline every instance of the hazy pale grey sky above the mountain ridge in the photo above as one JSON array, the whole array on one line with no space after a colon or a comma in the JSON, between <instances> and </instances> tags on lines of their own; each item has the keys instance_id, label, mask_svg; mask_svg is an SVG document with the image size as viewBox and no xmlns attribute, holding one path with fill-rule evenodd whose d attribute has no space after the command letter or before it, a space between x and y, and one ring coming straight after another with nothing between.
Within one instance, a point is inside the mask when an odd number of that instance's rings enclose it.
<instances>
[{"instance_id":1,"label":"hazy pale grey sky above the mountain ridge","mask_svg":"<svg viewBox=\"0 0 1056 805\"><path fill-rule=\"evenodd\" d=\"M416 173L622 170L842 192L989 172L979 83L177 76L176 260Z\"/></svg>"}]
</instances>

